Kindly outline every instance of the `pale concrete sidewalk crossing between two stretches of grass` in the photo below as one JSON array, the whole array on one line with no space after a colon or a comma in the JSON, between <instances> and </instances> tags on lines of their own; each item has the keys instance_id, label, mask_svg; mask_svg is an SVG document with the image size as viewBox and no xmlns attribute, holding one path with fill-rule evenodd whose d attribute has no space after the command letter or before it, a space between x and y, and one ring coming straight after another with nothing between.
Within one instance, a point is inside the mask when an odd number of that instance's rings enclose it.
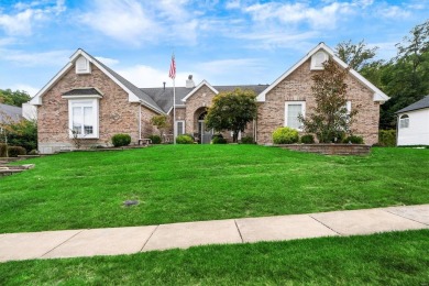
<instances>
[{"instance_id":1,"label":"pale concrete sidewalk crossing between two stretches of grass","mask_svg":"<svg viewBox=\"0 0 429 286\"><path fill-rule=\"evenodd\" d=\"M147 227L0 234L0 262L429 228L429 205Z\"/></svg>"}]
</instances>

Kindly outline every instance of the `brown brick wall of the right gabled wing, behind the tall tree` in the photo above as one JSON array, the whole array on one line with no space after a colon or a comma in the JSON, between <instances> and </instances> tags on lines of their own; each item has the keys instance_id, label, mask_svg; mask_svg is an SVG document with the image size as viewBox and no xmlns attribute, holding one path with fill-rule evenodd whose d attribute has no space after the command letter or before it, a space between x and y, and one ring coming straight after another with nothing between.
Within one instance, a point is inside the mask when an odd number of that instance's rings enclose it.
<instances>
[{"instance_id":1,"label":"brown brick wall of the right gabled wing, behind the tall tree","mask_svg":"<svg viewBox=\"0 0 429 286\"><path fill-rule=\"evenodd\" d=\"M266 95L265 102L258 103L257 112L257 143L272 143L272 133L278 127L285 124L285 101L306 101L306 116L311 113L316 101L311 95L310 58L295 69L288 77L280 81ZM352 109L359 108L352 131L361 135L365 144L378 142L380 103L373 101L374 92L349 75L345 82L349 86L348 100L352 102Z\"/></svg>"}]
</instances>

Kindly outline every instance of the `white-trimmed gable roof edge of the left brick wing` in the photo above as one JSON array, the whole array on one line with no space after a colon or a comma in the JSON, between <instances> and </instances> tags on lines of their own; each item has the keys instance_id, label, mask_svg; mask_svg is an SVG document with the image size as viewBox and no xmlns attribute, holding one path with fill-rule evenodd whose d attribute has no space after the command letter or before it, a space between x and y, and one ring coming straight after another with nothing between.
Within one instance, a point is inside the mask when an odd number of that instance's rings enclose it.
<instances>
[{"instance_id":1,"label":"white-trimmed gable roof edge of the left brick wing","mask_svg":"<svg viewBox=\"0 0 429 286\"><path fill-rule=\"evenodd\" d=\"M145 92L140 90L133 84L124 79L122 76L117 74L114 70L110 69L108 66L99 62L97 58L92 57L84 50L78 48L72 56L70 62L63 67L31 100L31 105L40 106L42 105L42 97L46 91L51 89L57 81L59 81L63 76L75 65L76 61L84 56L91 64L97 66L103 74L106 74L111 80L113 80L118 86L120 86L128 95L130 102L140 102L141 105L152 109L157 113L164 113L164 111L156 105L156 102Z\"/></svg>"}]
</instances>

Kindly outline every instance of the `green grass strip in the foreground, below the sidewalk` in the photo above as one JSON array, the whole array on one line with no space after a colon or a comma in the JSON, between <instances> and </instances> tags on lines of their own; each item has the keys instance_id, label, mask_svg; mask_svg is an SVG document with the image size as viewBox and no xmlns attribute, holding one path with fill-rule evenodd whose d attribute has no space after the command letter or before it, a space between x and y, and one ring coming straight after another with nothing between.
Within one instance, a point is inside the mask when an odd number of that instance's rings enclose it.
<instances>
[{"instance_id":1,"label":"green grass strip in the foreground, below the sidewalk","mask_svg":"<svg viewBox=\"0 0 429 286\"><path fill-rule=\"evenodd\" d=\"M0 285L428 285L429 230L0 264Z\"/></svg>"}]
</instances>

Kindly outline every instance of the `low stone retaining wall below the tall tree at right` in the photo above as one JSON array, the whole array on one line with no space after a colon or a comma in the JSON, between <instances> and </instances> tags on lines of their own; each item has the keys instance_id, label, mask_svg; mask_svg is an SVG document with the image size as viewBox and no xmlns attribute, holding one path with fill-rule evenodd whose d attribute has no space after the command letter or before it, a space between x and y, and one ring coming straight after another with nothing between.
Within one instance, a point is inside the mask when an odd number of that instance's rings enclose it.
<instances>
[{"instance_id":1,"label":"low stone retaining wall below the tall tree at right","mask_svg":"<svg viewBox=\"0 0 429 286\"><path fill-rule=\"evenodd\" d=\"M323 155L367 155L371 152L370 145L361 144L282 144L274 146Z\"/></svg>"}]
</instances>

